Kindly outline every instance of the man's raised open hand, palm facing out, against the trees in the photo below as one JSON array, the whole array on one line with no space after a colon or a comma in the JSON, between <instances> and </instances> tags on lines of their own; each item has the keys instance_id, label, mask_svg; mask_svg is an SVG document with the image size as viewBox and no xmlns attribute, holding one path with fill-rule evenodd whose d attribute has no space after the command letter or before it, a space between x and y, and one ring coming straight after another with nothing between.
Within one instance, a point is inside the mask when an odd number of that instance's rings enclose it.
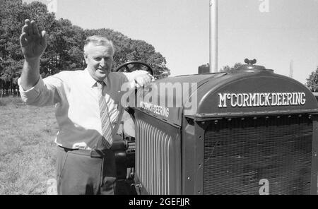
<instances>
[{"instance_id":1,"label":"man's raised open hand, palm facing out, against the trees","mask_svg":"<svg viewBox=\"0 0 318 209\"><path fill-rule=\"evenodd\" d=\"M20 45L25 59L40 58L47 48L45 30L40 33L35 21L26 19L20 35Z\"/></svg>"}]
</instances>

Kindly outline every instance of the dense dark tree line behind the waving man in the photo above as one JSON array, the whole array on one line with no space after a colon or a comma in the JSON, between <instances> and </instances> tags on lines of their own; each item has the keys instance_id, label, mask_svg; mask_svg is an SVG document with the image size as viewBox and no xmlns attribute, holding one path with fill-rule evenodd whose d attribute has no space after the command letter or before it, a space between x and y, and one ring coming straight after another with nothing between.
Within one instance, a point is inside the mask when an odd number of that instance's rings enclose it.
<instances>
[{"instance_id":1,"label":"dense dark tree line behind the waving man","mask_svg":"<svg viewBox=\"0 0 318 209\"><path fill-rule=\"evenodd\" d=\"M109 28L83 30L70 20L57 20L55 14L49 13L47 6L38 1L26 4L22 0L0 0L0 6L1 96L18 94L17 80L24 60L19 37L25 19L36 20L39 30L47 32L48 45L40 64L42 78L65 70L83 70L86 67L83 45L90 35L102 35L112 40L115 48L113 68L126 61L143 61L153 68L155 78L170 75L165 57L143 40L131 40L121 32Z\"/></svg>"}]
</instances>

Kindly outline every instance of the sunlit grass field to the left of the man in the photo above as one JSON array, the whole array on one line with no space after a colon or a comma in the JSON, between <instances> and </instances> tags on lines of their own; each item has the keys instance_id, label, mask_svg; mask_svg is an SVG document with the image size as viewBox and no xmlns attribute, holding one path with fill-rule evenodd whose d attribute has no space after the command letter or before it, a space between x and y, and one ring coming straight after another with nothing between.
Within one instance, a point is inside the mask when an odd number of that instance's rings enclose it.
<instances>
[{"instance_id":1,"label":"sunlit grass field to the left of the man","mask_svg":"<svg viewBox=\"0 0 318 209\"><path fill-rule=\"evenodd\" d=\"M55 175L54 107L0 98L0 194L46 194Z\"/></svg>"}]
</instances>

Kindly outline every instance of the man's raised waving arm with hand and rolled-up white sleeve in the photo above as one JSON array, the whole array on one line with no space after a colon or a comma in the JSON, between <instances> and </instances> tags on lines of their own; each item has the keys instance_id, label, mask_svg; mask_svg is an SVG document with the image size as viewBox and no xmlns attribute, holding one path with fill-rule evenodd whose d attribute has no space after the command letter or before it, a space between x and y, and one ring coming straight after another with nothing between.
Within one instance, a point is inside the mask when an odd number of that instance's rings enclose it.
<instances>
[{"instance_id":1,"label":"man's raised waving arm with hand and rolled-up white sleeve","mask_svg":"<svg viewBox=\"0 0 318 209\"><path fill-rule=\"evenodd\" d=\"M35 21L25 20L20 35L20 45L25 58L18 85L24 102L36 106L52 105L59 102L57 87L62 85L61 80L40 76L40 58L47 47L45 31L37 29Z\"/></svg>"}]
</instances>

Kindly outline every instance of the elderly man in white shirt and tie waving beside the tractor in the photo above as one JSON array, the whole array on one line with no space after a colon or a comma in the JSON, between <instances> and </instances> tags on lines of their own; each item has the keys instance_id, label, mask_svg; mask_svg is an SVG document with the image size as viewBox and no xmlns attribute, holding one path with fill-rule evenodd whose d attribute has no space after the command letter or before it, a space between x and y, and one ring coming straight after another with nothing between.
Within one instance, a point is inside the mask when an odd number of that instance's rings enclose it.
<instances>
[{"instance_id":1,"label":"elderly man in white shirt and tie waving beside the tractor","mask_svg":"<svg viewBox=\"0 0 318 209\"><path fill-rule=\"evenodd\" d=\"M62 71L42 79L40 56L47 47L45 31L25 20L20 44L25 62L18 80L20 95L36 106L55 105L59 132L57 143L57 191L59 194L114 194L116 167L110 149L125 82L146 85L146 71L111 72L114 47L105 37L88 37L84 47L87 67Z\"/></svg>"}]
</instances>

